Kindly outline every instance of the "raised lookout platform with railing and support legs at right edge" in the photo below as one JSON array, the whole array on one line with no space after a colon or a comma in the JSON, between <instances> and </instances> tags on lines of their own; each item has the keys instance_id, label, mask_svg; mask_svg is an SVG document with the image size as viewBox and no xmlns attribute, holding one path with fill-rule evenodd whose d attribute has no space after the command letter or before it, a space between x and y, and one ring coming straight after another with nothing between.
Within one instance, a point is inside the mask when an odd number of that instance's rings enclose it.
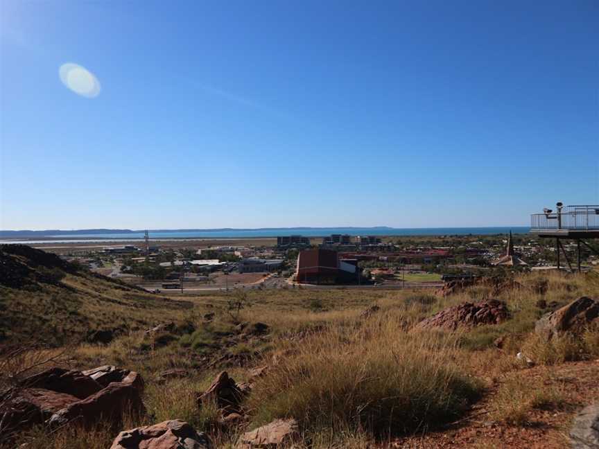
<instances>
[{"instance_id":1,"label":"raised lookout platform with railing and support legs at right edge","mask_svg":"<svg viewBox=\"0 0 599 449\"><path fill-rule=\"evenodd\" d=\"M555 212L552 209L544 209L543 213L530 215L530 232L541 238L555 238L558 270L560 263L559 250L561 249L568 267L573 271L568 254L562 245L562 239L575 240L577 268L580 272L581 243L599 256L599 252L584 241L599 238L599 205L564 206L561 202L558 202Z\"/></svg>"}]
</instances>

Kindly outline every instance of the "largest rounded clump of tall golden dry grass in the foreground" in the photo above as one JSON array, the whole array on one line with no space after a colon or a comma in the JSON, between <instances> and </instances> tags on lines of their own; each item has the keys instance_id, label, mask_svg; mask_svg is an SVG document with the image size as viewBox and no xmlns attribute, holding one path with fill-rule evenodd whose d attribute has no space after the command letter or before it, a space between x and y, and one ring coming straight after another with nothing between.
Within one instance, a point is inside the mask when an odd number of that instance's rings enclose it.
<instances>
[{"instance_id":1,"label":"largest rounded clump of tall golden dry grass in the foreground","mask_svg":"<svg viewBox=\"0 0 599 449\"><path fill-rule=\"evenodd\" d=\"M410 335L392 317L331 326L290 351L252 391L257 423L293 416L312 431L413 432L454 419L478 393L452 362L455 339Z\"/></svg>"}]
</instances>

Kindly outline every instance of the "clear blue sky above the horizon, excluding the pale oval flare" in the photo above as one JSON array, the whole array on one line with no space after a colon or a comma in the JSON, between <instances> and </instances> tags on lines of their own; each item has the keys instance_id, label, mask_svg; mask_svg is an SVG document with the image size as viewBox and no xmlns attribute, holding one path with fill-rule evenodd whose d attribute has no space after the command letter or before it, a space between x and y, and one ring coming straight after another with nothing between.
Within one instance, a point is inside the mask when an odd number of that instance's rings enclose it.
<instances>
[{"instance_id":1,"label":"clear blue sky above the horizon, excluding the pale oval flare","mask_svg":"<svg viewBox=\"0 0 599 449\"><path fill-rule=\"evenodd\" d=\"M1 229L509 226L599 203L595 0L0 3Z\"/></svg>"}]
</instances>

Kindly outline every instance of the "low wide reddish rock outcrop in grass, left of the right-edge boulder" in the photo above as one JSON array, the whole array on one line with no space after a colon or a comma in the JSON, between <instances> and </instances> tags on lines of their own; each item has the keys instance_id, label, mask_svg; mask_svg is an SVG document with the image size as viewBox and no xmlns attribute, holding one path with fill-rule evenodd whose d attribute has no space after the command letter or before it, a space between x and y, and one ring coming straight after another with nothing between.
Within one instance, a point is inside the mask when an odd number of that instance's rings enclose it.
<instances>
[{"instance_id":1,"label":"low wide reddish rock outcrop in grass, left of the right-edge boulder","mask_svg":"<svg viewBox=\"0 0 599 449\"><path fill-rule=\"evenodd\" d=\"M419 322L415 329L444 328L455 331L460 327L473 328L483 324L499 324L509 317L510 312L503 301L489 299L446 308Z\"/></svg>"}]
</instances>

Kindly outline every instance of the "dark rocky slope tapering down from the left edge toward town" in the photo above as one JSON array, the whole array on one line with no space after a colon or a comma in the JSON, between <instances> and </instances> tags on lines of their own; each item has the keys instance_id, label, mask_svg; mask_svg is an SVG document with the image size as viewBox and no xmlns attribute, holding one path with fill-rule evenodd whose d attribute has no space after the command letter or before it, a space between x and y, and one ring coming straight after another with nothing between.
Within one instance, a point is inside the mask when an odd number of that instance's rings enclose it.
<instances>
[{"instance_id":1,"label":"dark rocky slope tapering down from the left edge toward town","mask_svg":"<svg viewBox=\"0 0 599 449\"><path fill-rule=\"evenodd\" d=\"M82 270L26 245L0 246L0 345L110 342L170 319L193 304Z\"/></svg>"}]
</instances>

